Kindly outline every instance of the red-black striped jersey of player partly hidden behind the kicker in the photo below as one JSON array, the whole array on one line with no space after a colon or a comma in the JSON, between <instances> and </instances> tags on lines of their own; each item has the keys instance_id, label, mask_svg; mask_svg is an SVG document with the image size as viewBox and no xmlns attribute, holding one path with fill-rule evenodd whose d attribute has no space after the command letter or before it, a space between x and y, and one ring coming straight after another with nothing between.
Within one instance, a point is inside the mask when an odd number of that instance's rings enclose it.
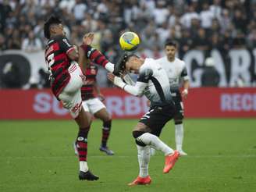
<instances>
[{"instance_id":1,"label":"red-black striped jersey of player partly hidden behind the kicker","mask_svg":"<svg viewBox=\"0 0 256 192\"><path fill-rule=\"evenodd\" d=\"M81 87L82 100L85 101L89 98L95 98L94 95L94 83L96 82L96 76L98 73L98 67L90 64L84 71L87 84Z\"/></svg>"}]
</instances>

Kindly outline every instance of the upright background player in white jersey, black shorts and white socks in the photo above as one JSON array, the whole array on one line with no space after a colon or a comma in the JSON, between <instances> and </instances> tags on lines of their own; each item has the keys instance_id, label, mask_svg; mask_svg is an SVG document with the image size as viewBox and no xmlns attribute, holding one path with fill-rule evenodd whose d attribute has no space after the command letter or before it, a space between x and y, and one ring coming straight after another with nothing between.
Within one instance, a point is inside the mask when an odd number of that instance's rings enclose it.
<instances>
[{"instance_id":1,"label":"upright background player in white jersey, black shorts and white socks","mask_svg":"<svg viewBox=\"0 0 256 192\"><path fill-rule=\"evenodd\" d=\"M185 62L175 57L177 44L174 41L167 41L165 43L165 57L157 60L157 62L165 69L169 84L171 87L171 94L173 101L176 105L176 114L174 116L175 123L175 140L176 150L180 152L180 155L187 155L183 151L183 98L187 98L189 84L189 76L187 75L187 69ZM182 84L183 91L180 94L180 85Z\"/></svg>"}]
</instances>

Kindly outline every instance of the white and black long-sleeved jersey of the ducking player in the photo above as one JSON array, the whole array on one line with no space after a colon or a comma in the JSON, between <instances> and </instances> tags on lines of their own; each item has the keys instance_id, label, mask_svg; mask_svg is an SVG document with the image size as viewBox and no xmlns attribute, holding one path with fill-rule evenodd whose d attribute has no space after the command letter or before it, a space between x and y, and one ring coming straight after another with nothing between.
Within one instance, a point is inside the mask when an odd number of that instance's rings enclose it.
<instances>
[{"instance_id":1,"label":"white and black long-sleeved jersey of the ducking player","mask_svg":"<svg viewBox=\"0 0 256 192\"><path fill-rule=\"evenodd\" d=\"M127 85L124 89L136 96L145 95L151 101L151 106L172 103L168 76L155 59L145 59L144 64L140 66L135 86Z\"/></svg>"}]
</instances>

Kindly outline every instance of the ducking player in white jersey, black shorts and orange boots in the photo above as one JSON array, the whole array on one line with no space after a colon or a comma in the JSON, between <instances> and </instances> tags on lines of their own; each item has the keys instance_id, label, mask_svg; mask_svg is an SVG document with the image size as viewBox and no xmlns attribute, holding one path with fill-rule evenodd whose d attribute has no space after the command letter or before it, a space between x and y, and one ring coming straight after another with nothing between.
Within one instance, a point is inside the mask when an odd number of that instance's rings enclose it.
<instances>
[{"instance_id":1,"label":"ducking player in white jersey, black shorts and orange boots","mask_svg":"<svg viewBox=\"0 0 256 192\"><path fill-rule=\"evenodd\" d=\"M137 55L124 55L123 59L119 59L116 65L123 66L130 73L137 73L137 83L135 85L126 84L123 79L112 73L108 74L108 79L124 91L137 97L145 95L151 101L149 111L141 117L133 129L140 173L136 180L133 180L129 185L149 184L151 183L151 178L148 175L150 148L155 148L165 154L164 173L172 169L180 155L178 151L173 150L159 139L163 126L175 114L175 105L169 91L169 79L165 69L155 59L141 59ZM116 67L114 74L117 74Z\"/></svg>"}]
</instances>

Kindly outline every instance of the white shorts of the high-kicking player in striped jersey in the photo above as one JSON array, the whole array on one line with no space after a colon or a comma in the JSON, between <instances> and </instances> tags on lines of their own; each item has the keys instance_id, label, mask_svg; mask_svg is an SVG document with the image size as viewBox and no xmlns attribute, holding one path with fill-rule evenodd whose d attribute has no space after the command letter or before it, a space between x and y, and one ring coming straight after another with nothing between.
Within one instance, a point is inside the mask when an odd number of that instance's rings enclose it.
<instances>
[{"instance_id":1,"label":"white shorts of the high-kicking player in striped jersey","mask_svg":"<svg viewBox=\"0 0 256 192\"><path fill-rule=\"evenodd\" d=\"M83 73L77 62L72 62L69 66L70 80L66 87L59 94L59 99L62 101L64 108L69 110L70 115L75 119L81 108L82 98L80 88L83 86Z\"/></svg>"}]
</instances>

